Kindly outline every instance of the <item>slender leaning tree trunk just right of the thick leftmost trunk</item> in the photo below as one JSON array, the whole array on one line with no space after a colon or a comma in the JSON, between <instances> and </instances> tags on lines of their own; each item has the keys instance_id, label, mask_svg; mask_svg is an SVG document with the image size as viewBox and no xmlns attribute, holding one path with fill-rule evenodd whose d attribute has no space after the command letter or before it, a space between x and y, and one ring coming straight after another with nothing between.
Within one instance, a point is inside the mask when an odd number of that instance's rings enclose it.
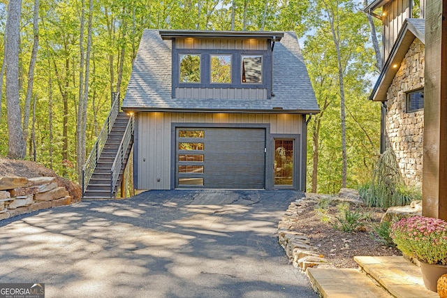
<instances>
[{"instance_id":1,"label":"slender leaning tree trunk just right of the thick leftmost trunk","mask_svg":"<svg viewBox=\"0 0 447 298\"><path fill-rule=\"evenodd\" d=\"M33 94L33 84L34 84L34 66L36 66L36 57L39 45L38 18L39 18L39 0L34 0L34 15L33 15L34 43L33 43L33 50L31 51L31 61L29 61L28 87L27 87L27 95L25 96L25 107L23 111L24 117L23 117L22 129L25 144L27 143L28 139L29 110L31 108L31 96Z\"/></svg>"}]
</instances>

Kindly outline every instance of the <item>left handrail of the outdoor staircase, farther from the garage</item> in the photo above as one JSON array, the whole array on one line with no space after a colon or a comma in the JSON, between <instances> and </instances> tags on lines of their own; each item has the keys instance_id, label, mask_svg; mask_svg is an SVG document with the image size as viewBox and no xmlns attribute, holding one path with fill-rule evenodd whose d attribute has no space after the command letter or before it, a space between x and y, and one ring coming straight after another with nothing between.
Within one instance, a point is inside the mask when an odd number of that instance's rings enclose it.
<instances>
[{"instance_id":1,"label":"left handrail of the outdoor staircase, farther from the garage","mask_svg":"<svg viewBox=\"0 0 447 298\"><path fill-rule=\"evenodd\" d=\"M107 119L105 119L101 132L96 138L96 142L90 151L90 155L87 158L84 167L82 167L82 198L84 198L85 191L87 190L91 176L93 175L96 165L98 164L99 156L101 156L101 152L104 149L108 135L110 134L110 131L112 131L112 127L115 123L115 119L117 119L118 113L119 92L115 94L115 98L113 99L112 107L110 107L110 112Z\"/></svg>"}]
</instances>

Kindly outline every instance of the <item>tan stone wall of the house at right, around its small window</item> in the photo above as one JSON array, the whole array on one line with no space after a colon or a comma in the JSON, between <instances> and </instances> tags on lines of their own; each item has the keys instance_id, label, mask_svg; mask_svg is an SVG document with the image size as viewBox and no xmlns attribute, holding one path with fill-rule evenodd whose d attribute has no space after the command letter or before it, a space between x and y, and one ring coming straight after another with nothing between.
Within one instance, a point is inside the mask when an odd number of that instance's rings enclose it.
<instances>
[{"instance_id":1,"label":"tan stone wall of the house at right, around its small window","mask_svg":"<svg viewBox=\"0 0 447 298\"><path fill-rule=\"evenodd\" d=\"M424 112L406 112L406 93L424 87L425 46L416 38L387 93L386 144L396 154L406 185L423 181Z\"/></svg>"}]
</instances>

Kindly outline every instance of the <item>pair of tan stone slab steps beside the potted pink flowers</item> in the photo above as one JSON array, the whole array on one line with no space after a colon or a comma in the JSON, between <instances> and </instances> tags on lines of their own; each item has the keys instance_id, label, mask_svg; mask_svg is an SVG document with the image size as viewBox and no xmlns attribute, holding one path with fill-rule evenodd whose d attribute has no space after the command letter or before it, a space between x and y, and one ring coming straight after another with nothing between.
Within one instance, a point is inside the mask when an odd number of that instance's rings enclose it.
<instances>
[{"instance_id":1,"label":"pair of tan stone slab steps beside the potted pink flowers","mask_svg":"<svg viewBox=\"0 0 447 298\"><path fill-rule=\"evenodd\" d=\"M308 268L324 298L439 298L424 286L420 268L403 257L354 257L359 269Z\"/></svg>"}]
</instances>

